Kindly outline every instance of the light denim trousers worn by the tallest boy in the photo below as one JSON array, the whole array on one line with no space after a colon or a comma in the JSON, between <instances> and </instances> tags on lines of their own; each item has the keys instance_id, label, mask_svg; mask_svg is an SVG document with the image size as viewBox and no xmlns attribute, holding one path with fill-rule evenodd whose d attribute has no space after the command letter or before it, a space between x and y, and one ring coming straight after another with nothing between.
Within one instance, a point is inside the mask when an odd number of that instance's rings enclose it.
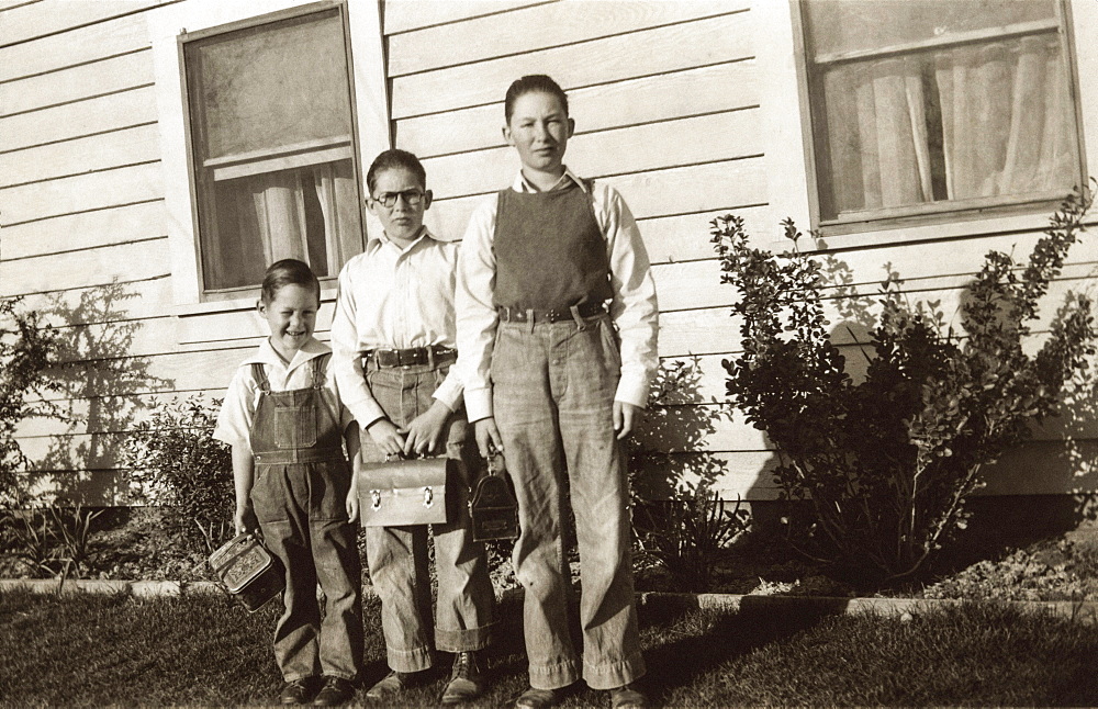
<instances>
[{"instance_id":1,"label":"light denim trousers worn by the tallest boy","mask_svg":"<svg viewBox=\"0 0 1098 709\"><path fill-rule=\"evenodd\" d=\"M617 334L605 314L536 325L500 323L496 330L493 405L518 497L523 531L513 563L526 592L526 653L530 686L538 689L564 687L581 676L561 541L565 495L580 549L582 676L593 689L610 689L645 674L628 482L614 434L620 368Z\"/></svg>"}]
</instances>

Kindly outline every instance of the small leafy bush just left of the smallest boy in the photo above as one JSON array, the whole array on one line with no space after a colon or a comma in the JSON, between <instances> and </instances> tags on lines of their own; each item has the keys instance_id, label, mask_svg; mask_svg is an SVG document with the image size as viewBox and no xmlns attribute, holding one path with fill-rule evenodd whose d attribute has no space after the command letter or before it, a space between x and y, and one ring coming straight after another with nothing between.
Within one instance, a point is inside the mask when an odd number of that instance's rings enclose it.
<instances>
[{"instance_id":1,"label":"small leafy bush just left of the smallest boy","mask_svg":"<svg viewBox=\"0 0 1098 709\"><path fill-rule=\"evenodd\" d=\"M134 428L123 453L138 498L161 505L180 541L199 551L233 536L233 454L213 438L219 406L172 399Z\"/></svg>"}]
</instances>

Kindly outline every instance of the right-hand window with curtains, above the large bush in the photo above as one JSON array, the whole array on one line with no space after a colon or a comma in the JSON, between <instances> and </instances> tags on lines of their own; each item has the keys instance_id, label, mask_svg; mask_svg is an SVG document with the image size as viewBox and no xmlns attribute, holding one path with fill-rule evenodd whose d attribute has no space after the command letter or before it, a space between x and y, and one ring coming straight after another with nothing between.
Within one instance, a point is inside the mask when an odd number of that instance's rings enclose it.
<instances>
[{"instance_id":1,"label":"right-hand window with curtains, above the large bush","mask_svg":"<svg viewBox=\"0 0 1098 709\"><path fill-rule=\"evenodd\" d=\"M1060 0L803 0L821 224L1062 199L1082 180Z\"/></svg>"}]
</instances>

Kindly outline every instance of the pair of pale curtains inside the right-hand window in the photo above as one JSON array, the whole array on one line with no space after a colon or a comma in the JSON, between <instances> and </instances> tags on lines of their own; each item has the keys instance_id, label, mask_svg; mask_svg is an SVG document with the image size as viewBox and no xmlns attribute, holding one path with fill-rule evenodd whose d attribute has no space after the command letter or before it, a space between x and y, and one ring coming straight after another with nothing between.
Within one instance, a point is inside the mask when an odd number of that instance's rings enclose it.
<instances>
[{"instance_id":1,"label":"pair of pale curtains inside the right-hand window","mask_svg":"<svg viewBox=\"0 0 1098 709\"><path fill-rule=\"evenodd\" d=\"M1071 187L1072 104L1055 36L926 56L862 61L826 75L838 212L933 201L934 156L944 161L950 200ZM928 87L937 83L937 97L925 95L925 75ZM933 120L928 134L933 99L941 109L940 147Z\"/></svg>"}]
</instances>

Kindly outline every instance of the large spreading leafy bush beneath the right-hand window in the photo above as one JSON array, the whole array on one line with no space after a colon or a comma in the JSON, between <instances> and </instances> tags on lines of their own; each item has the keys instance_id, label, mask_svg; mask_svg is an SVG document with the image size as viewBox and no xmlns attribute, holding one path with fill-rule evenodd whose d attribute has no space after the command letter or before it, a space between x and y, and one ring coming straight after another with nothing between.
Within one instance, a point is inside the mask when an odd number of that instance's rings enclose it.
<instances>
[{"instance_id":1,"label":"large spreading leafy bush beneath the right-hand window","mask_svg":"<svg viewBox=\"0 0 1098 709\"><path fill-rule=\"evenodd\" d=\"M727 392L766 432L787 499L806 500L800 548L883 579L914 574L966 520L981 471L1060 410L1065 380L1094 352L1090 301L1069 295L1035 356L1022 344L1038 304L1084 229L1088 191L1069 196L1017 265L990 251L961 305L961 330L937 303L907 305L890 274L854 383L828 331L819 262L797 248L751 248L740 217L714 222L721 282L739 291L742 353L722 362Z\"/></svg>"}]
</instances>

